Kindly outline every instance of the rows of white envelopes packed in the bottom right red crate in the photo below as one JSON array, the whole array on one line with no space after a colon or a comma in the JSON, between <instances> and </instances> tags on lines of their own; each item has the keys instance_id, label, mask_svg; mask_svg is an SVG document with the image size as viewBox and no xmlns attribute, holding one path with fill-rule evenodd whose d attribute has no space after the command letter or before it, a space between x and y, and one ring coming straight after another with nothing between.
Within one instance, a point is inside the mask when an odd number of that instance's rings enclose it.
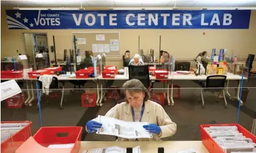
<instances>
[{"instance_id":1,"label":"rows of white envelopes packed in the bottom right red crate","mask_svg":"<svg viewBox=\"0 0 256 153\"><path fill-rule=\"evenodd\" d=\"M226 153L256 151L252 139L244 137L236 126L210 126L204 127L204 129Z\"/></svg>"}]
</instances>

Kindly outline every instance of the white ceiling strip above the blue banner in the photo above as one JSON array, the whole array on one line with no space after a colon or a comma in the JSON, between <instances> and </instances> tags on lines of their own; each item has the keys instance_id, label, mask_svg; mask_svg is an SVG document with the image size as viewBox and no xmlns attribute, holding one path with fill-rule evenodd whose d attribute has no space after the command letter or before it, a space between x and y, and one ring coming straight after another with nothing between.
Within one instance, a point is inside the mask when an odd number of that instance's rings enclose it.
<instances>
[{"instance_id":1,"label":"white ceiling strip above the blue banner","mask_svg":"<svg viewBox=\"0 0 256 153\"><path fill-rule=\"evenodd\" d=\"M2 1L12 7L256 7L256 0L30 0Z\"/></svg>"}]
</instances>

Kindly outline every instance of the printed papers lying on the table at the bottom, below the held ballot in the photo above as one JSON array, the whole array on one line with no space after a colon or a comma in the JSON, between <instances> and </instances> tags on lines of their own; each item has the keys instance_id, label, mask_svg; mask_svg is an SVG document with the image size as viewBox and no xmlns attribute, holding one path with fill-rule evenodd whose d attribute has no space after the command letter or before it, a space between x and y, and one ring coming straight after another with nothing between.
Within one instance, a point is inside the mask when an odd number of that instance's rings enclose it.
<instances>
[{"instance_id":1,"label":"printed papers lying on the table at the bottom, below the held ballot","mask_svg":"<svg viewBox=\"0 0 256 153\"><path fill-rule=\"evenodd\" d=\"M119 146L112 146L107 148L90 149L83 151L82 153L126 153L126 148L120 148ZM141 153L139 146L133 148L133 153Z\"/></svg>"}]
</instances>

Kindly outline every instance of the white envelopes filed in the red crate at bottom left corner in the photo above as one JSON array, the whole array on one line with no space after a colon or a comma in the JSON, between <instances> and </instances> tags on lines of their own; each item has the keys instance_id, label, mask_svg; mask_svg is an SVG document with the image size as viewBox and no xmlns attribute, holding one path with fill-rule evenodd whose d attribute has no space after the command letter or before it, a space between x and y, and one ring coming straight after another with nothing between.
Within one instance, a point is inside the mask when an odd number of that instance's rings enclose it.
<instances>
[{"instance_id":1,"label":"white envelopes filed in the red crate at bottom left corner","mask_svg":"<svg viewBox=\"0 0 256 153\"><path fill-rule=\"evenodd\" d=\"M29 123L1 123L1 143L28 124Z\"/></svg>"}]
</instances>

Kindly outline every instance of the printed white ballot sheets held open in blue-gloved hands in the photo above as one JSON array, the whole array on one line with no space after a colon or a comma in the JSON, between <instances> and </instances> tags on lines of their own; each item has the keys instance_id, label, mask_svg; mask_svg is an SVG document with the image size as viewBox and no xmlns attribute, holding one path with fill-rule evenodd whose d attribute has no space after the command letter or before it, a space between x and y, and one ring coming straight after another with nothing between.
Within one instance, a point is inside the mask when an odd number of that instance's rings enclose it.
<instances>
[{"instance_id":1,"label":"printed white ballot sheets held open in blue-gloved hands","mask_svg":"<svg viewBox=\"0 0 256 153\"><path fill-rule=\"evenodd\" d=\"M103 126L96 132L103 135L115 135L122 138L152 138L152 133L143 128L147 122L128 122L106 116L98 116Z\"/></svg>"}]
</instances>

